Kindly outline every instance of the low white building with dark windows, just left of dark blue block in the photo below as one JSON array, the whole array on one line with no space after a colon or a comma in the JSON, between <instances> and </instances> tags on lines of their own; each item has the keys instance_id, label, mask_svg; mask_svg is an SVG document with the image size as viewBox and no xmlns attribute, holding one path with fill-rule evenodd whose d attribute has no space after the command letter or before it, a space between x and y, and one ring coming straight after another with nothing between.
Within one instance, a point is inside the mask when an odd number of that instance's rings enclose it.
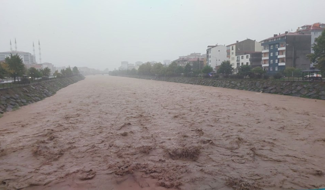
<instances>
[{"instance_id":1,"label":"low white building with dark windows, just left of dark blue block","mask_svg":"<svg viewBox=\"0 0 325 190\"><path fill-rule=\"evenodd\" d=\"M234 67L234 73L238 72L240 66L250 65L253 67L261 67L262 52L245 52L242 55L236 56L236 65Z\"/></svg>"}]
</instances>

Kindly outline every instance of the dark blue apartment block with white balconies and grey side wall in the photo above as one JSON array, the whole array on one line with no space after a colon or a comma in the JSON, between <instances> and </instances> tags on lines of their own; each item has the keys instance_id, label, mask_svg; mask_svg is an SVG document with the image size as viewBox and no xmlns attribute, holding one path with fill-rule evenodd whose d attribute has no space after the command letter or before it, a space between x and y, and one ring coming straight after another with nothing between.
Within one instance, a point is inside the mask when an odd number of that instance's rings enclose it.
<instances>
[{"instance_id":1,"label":"dark blue apartment block with white balconies and grey side wall","mask_svg":"<svg viewBox=\"0 0 325 190\"><path fill-rule=\"evenodd\" d=\"M311 36L300 32L274 34L262 41L262 67L268 73L284 70L285 67L306 69L310 67Z\"/></svg>"}]
</instances>

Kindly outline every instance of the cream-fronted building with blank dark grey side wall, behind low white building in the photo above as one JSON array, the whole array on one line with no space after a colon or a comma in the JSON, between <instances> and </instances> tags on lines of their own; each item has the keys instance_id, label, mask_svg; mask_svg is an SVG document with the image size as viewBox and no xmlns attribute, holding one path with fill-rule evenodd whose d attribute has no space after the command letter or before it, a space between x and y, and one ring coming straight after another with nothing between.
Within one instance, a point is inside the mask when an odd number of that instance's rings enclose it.
<instances>
[{"instance_id":1,"label":"cream-fronted building with blank dark grey side wall, behind low white building","mask_svg":"<svg viewBox=\"0 0 325 190\"><path fill-rule=\"evenodd\" d=\"M261 52L262 46L260 42L255 40L246 39L241 42L236 41L234 44L227 46L227 57L230 63L235 68L237 67L237 56L244 55L245 52Z\"/></svg>"}]
</instances>

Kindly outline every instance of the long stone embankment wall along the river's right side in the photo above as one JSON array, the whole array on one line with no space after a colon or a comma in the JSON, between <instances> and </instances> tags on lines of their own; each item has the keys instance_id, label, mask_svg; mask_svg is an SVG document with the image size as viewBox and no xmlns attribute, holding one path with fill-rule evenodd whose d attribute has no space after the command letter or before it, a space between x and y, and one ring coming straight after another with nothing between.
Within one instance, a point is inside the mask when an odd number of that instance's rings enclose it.
<instances>
[{"instance_id":1,"label":"long stone embankment wall along the river's right side","mask_svg":"<svg viewBox=\"0 0 325 190\"><path fill-rule=\"evenodd\" d=\"M325 82L300 82L300 81L272 81L272 80L234 80L234 79L198 79L187 77L151 77L142 75L123 75L138 79L152 79L185 83L192 85L204 85L238 90L248 90L272 94L283 94L304 98L325 100Z\"/></svg>"}]
</instances>

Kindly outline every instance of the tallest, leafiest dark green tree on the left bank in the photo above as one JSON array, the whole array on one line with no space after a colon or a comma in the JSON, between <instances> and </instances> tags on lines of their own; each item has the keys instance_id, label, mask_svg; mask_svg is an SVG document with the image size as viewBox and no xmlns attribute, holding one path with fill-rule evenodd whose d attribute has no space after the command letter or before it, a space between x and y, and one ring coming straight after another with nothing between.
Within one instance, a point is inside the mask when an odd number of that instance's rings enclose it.
<instances>
[{"instance_id":1,"label":"tallest, leafiest dark green tree on the left bank","mask_svg":"<svg viewBox=\"0 0 325 190\"><path fill-rule=\"evenodd\" d=\"M16 81L16 78L22 77L25 73L25 65L19 55L10 54L10 57L6 57L5 61L9 70L11 70L10 76L14 78L14 81Z\"/></svg>"}]
</instances>

